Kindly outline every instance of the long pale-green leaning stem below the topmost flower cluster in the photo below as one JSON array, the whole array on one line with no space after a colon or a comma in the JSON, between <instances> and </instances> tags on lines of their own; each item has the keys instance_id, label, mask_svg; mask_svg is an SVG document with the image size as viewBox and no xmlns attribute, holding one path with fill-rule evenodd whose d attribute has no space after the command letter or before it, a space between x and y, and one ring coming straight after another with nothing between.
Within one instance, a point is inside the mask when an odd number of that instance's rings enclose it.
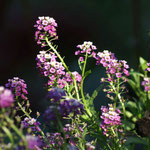
<instances>
[{"instance_id":1,"label":"long pale-green leaning stem below the topmost flower cluster","mask_svg":"<svg viewBox=\"0 0 150 150\"><path fill-rule=\"evenodd\" d=\"M75 91L76 91L76 97L79 100L79 91L78 91L78 87L77 87L77 82L75 80L75 77L72 75L72 73L69 71L69 68L67 67L67 65L65 64L63 58L60 56L60 54L57 52L57 50L52 46L51 42L49 42L48 38L45 38L48 46L54 51L54 53L57 55L57 57L60 59L60 61L62 62L62 64L64 65L65 69L67 70L67 72L71 75L73 82L74 82L74 86L75 86Z\"/></svg>"}]
</instances>

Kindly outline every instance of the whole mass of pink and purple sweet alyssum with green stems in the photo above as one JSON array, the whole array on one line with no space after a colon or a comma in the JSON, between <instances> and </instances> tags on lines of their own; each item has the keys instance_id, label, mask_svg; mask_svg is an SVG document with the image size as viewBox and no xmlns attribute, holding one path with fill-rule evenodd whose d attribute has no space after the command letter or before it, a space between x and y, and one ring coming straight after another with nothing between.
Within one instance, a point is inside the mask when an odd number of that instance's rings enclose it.
<instances>
[{"instance_id":1,"label":"whole mass of pink and purple sweet alyssum with green stems","mask_svg":"<svg viewBox=\"0 0 150 150\"><path fill-rule=\"evenodd\" d=\"M139 142L133 139L143 141L143 138L139 130L128 128L132 108L129 104L133 102L124 96L127 82L132 85L127 62L118 60L108 50L98 52L92 42L85 41L75 51L81 72L70 71L54 44L58 40L56 21L39 17L34 27L35 40L42 47L36 61L41 75L47 78L45 101L48 106L44 114L37 112L34 118L24 80L14 77L5 87L1 86L0 150L134 149ZM91 73L86 69L88 59L94 59L96 66L106 70L106 76L100 79L100 86L91 96L84 89L84 80ZM142 85L148 92L149 79L144 78ZM101 90L110 101L97 112L93 101ZM138 121L134 122L136 124ZM150 149L149 138L145 139L143 147Z\"/></svg>"}]
</instances>

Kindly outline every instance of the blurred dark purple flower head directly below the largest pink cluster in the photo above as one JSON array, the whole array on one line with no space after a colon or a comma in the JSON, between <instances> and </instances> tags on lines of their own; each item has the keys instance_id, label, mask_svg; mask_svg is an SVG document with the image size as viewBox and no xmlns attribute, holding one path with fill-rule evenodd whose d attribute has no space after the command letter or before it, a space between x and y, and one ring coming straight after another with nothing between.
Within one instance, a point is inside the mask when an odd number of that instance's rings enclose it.
<instances>
[{"instance_id":1,"label":"blurred dark purple flower head directly below the largest pink cluster","mask_svg":"<svg viewBox=\"0 0 150 150\"><path fill-rule=\"evenodd\" d=\"M60 102L64 96L66 96L64 89L57 87L51 88L47 93L47 98L53 103Z\"/></svg>"}]
</instances>

